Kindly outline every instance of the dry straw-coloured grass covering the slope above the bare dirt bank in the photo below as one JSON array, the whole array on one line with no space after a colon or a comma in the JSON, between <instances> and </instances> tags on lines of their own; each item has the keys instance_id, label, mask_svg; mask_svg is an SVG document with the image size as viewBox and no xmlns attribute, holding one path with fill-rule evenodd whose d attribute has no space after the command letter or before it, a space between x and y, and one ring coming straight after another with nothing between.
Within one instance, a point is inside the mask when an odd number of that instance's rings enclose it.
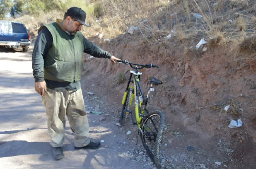
<instances>
[{"instance_id":1,"label":"dry straw-coloured grass covering the slope above the bare dirt bank","mask_svg":"<svg viewBox=\"0 0 256 169\"><path fill-rule=\"evenodd\" d=\"M134 25L138 27L136 34L149 43L165 41L164 37L175 32L178 39L191 42L190 48L201 38L210 40L212 45L241 43L256 31L254 0L87 0L87 3L72 0L67 7L77 6L72 2L95 14L86 19L91 27L82 29L87 38L98 37L96 34L103 32L103 38L113 39ZM197 19L194 13L203 17ZM18 20L36 30L41 24L62 16L63 12L53 11L33 20L25 16Z\"/></svg>"}]
</instances>

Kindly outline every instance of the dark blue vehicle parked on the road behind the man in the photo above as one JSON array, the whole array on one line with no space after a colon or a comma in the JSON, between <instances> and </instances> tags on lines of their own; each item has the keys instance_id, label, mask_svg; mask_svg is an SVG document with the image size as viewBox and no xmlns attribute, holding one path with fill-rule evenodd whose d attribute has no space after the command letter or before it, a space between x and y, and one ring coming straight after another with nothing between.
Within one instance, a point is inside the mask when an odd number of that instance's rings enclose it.
<instances>
[{"instance_id":1,"label":"dark blue vehicle parked on the road behind the man","mask_svg":"<svg viewBox=\"0 0 256 169\"><path fill-rule=\"evenodd\" d=\"M30 35L23 23L0 21L0 47L22 48L27 52L30 44Z\"/></svg>"}]
</instances>

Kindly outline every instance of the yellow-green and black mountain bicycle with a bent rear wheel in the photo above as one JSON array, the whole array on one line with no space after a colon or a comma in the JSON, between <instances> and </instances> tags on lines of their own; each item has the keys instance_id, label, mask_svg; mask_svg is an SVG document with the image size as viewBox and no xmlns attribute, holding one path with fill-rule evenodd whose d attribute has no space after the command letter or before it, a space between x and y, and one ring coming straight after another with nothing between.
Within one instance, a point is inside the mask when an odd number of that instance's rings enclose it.
<instances>
[{"instance_id":1,"label":"yellow-green and black mountain bicycle with a bent rear wheel","mask_svg":"<svg viewBox=\"0 0 256 169\"><path fill-rule=\"evenodd\" d=\"M123 126L125 124L128 114L131 114L133 125L138 125L139 129L136 145L138 143L138 137L140 133L142 144L146 149L148 156L150 156L151 160L155 163L157 168L161 168L159 149L163 138L163 129L165 128L165 116L159 110L148 112L146 106L148 104L148 100L150 99L150 92L154 91L153 86L163 84L163 82L159 81L156 78L151 78L150 89L148 90L147 96L145 97L143 95L143 91L140 84L142 72L139 71L143 68L159 68L159 66L153 64L135 64L130 63L126 60L121 60L118 62L129 64L133 69L135 69L130 70L130 77L128 79L127 87L125 89L125 93L122 99L123 108L121 112L121 117L119 119L119 126ZM134 76L133 80L132 76ZM130 86L130 83L133 83L134 86ZM129 110L130 106L132 105L133 97L135 99L136 120L134 120L133 118L133 112ZM155 118L159 118L159 120L155 120ZM158 128L156 125L157 123L159 123ZM150 142L151 145L148 145L147 142ZM153 146L152 142L154 144Z\"/></svg>"}]
</instances>

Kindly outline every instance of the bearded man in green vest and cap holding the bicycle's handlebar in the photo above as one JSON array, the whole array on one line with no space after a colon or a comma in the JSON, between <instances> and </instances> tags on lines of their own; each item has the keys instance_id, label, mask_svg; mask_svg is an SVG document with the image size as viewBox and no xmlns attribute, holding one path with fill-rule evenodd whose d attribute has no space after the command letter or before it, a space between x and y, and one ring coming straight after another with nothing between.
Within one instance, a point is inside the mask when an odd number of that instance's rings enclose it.
<instances>
[{"instance_id":1,"label":"bearded man in green vest and cap holding the bicycle's handlebar","mask_svg":"<svg viewBox=\"0 0 256 169\"><path fill-rule=\"evenodd\" d=\"M108 58L113 63L120 60L82 35L82 25L89 26L85 19L86 13L81 8L71 7L63 20L41 26L32 54L35 90L46 108L48 134L56 160L64 157L65 114L75 136L76 149L100 147L100 142L92 142L88 137L89 124L80 85L83 53Z\"/></svg>"}]
</instances>

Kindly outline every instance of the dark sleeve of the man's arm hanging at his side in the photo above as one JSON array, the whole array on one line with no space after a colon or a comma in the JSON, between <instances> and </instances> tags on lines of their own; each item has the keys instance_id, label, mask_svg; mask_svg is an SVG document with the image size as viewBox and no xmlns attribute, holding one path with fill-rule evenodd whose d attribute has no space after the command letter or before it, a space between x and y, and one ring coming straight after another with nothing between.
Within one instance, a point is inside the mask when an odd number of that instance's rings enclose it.
<instances>
[{"instance_id":1,"label":"dark sleeve of the man's arm hanging at his side","mask_svg":"<svg viewBox=\"0 0 256 169\"><path fill-rule=\"evenodd\" d=\"M38 33L32 54L32 68L35 82L44 81L44 58L53 44L51 33L46 27Z\"/></svg>"}]
</instances>

